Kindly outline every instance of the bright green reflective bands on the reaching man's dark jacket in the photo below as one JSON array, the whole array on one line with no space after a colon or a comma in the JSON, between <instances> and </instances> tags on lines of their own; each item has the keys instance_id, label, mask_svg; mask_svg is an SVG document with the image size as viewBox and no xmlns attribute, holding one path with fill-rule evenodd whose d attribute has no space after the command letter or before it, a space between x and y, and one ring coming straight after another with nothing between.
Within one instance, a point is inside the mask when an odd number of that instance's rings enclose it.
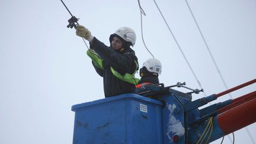
<instances>
[{"instance_id":1,"label":"bright green reflective bands on the reaching man's dark jacket","mask_svg":"<svg viewBox=\"0 0 256 144\"><path fill-rule=\"evenodd\" d=\"M92 63L94 63L94 65L97 66L97 68L104 69L103 59L101 59L101 57L98 56L98 54L95 53L94 50L91 50L91 49L87 50L87 55L92 59ZM119 72L115 71L112 67L110 67L110 70L114 76L121 79L122 81L137 85L140 79L135 78L135 73L137 72L137 67L138 67L138 64L136 61L135 61L135 64L136 64L136 69L135 69L135 72L133 72L133 74L125 73L124 75L121 75Z\"/></svg>"}]
</instances>

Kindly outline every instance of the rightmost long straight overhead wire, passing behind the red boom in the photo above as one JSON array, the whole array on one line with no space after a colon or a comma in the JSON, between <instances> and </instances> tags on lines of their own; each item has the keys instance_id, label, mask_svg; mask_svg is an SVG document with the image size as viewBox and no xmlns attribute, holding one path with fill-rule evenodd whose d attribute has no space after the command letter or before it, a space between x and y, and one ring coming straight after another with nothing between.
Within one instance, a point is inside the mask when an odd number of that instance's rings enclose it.
<instances>
[{"instance_id":1,"label":"rightmost long straight overhead wire, passing behind the red boom","mask_svg":"<svg viewBox=\"0 0 256 144\"><path fill-rule=\"evenodd\" d=\"M193 19L194 19L194 22L195 22L196 25L197 25L197 28L198 28L199 33L200 33L200 35L201 35L201 38L203 39L204 44L206 45L207 51L209 52L210 57L211 57L212 60L213 60L213 63L214 63L214 65L215 65L215 68L216 68L217 72L219 73L220 79L222 80L223 85L225 86L225 88L228 89L228 86L226 85L226 82L225 82L225 80L224 80L224 78L223 78L223 76L222 76L222 73L220 73L220 69L219 69L219 67L217 66L217 63L216 63L216 61L215 61L215 58L213 57L212 52L210 51L210 48L209 48L209 46L208 46L208 44L207 44L207 42L206 42L206 39L204 39L204 36L203 36L203 33L201 32L201 29L200 29L200 27L199 27L199 24L197 23L197 20L196 20L196 18L194 17L194 14L193 14L193 12L192 12L192 10L191 10L191 8L190 8L190 5L188 4L187 0L185 0L185 2L186 2L186 4L187 4L188 9L190 10L190 13L191 13L191 15L192 15L192 17L193 17ZM229 97L231 97L231 98L233 99L231 93L229 93ZM248 133L248 135L249 135L249 137L250 137L252 143L255 143L255 142L254 142L254 139L252 139L251 133L249 132L248 128L245 127L245 129L247 130L247 133ZM228 136L228 137L229 137L229 136ZM235 138L234 138L234 139L235 139ZM229 137L229 140L231 140L230 137Z\"/></svg>"}]
</instances>

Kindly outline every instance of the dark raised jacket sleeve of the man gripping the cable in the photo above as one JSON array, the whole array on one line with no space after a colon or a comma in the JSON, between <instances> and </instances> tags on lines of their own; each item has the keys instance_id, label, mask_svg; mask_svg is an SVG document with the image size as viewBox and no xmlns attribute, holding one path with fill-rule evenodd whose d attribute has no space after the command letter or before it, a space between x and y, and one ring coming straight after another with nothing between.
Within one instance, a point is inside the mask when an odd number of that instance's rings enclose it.
<instances>
[{"instance_id":1,"label":"dark raised jacket sleeve of the man gripping the cable","mask_svg":"<svg viewBox=\"0 0 256 144\"><path fill-rule=\"evenodd\" d=\"M114 70L124 75L125 73L133 73L136 69L135 58L132 54L120 54L115 52L111 47L105 46L104 43L94 37L90 48L95 50L98 55L108 63Z\"/></svg>"}]
</instances>

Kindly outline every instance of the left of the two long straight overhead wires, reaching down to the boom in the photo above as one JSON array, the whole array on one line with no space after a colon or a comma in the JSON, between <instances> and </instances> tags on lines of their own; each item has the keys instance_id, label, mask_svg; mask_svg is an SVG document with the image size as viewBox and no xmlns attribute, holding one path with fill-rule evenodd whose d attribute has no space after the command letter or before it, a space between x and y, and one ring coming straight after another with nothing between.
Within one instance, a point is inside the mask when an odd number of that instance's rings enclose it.
<instances>
[{"instance_id":1,"label":"left of the two long straight overhead wires, reaching down to the boom","mask_svg":"<svg viewBox=\"0 0 256 144\"><path fill-rule=\"evenodd\" d=\"M156 1L155 1L155 0L153 0L153 1L155 2L155 5L156 5L156 7L158 8L158 11L160 12L160 14L161 14L163 20L165 21L165 24L167 25L167 27L168 27L168 29L169 29L169 32L171 33L172 37L174 38L175 43L177 44L178 48L180 49L181 54L183 55L185 61L187 62L187 65L188 65L188 67L190 68L190 71L193 73L194 78L196 79L197 83L199 84L199 87L200 87L201 89L203 89L203 88L201 87L201 84L200 84L199 79L198 79L197 76L196 76L196 73L194 73L194 71L193 71L193 69L192 69L190 63L189 63L188 60L187 60L187 57L185 57L185 54L184 54L183 50L182 50L181 47L180 47L180 44L178 44L178 41L176 40L174 34L172 33L171 28L169 27L167 21L165 20L164 15L162 14L160 8L158 7L158 4L156 4ZM204 93L204 95L206 95L205 92L203 92L203 93Z\"/></svg>"}]
</instances>

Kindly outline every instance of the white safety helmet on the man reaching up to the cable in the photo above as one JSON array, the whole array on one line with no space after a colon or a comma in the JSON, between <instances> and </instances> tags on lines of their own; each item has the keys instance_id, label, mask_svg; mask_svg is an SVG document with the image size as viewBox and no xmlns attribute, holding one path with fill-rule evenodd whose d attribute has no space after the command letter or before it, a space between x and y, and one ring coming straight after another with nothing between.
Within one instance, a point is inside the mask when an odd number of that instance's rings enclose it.
<instances>
[{"instance_id":1,"label":"white safety helmet on the man reaching up to the cable","mask_svg":"<svg viewBox=\"0 0 256 144\"><path fill-rule=\"evenodd\" d=\"M132 28L129 27L120 27L116 30L114 34L117 34L120 36L123 40L130 42L132 46L135 45L136 42L136 34L135 31L133 31ZM113 34L110 36L110 42L113 39Z\"/></svg>"}]
</instances>

